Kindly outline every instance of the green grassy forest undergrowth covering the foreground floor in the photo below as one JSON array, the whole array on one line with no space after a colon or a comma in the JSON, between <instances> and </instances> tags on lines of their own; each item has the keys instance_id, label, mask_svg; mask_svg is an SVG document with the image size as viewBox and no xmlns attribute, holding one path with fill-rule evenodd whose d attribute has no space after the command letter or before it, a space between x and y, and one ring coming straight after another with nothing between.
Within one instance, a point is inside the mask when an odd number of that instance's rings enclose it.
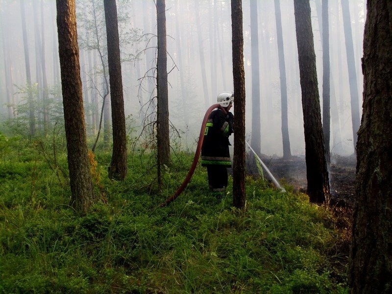
<instances>
[{"instance_id":1,"label":"green grassy forest undergrowth covering the foreground floor","mask_svg":"<svg viewBox=\"0 0 392 294\"><path fill-rule=\"evenodd\" d=\"M99 148L98 148L99 149ZM349 234L328 207L246 177L212 195L193 154L172 151L157 191L153 151L132 150L125 181L109 180L111 151L95 154L102 201L69 205L65 142L0 135L0 293L347 293Z\"/></svg>"}]
</instances>

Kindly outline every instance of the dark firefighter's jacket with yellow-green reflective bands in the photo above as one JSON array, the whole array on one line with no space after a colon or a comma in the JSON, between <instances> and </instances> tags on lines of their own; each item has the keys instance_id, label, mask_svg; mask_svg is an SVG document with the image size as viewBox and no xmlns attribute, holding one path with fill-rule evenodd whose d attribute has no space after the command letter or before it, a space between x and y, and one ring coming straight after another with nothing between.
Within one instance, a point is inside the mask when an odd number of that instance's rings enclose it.
<instances>
[{"instance_id":1,"label":"dark firefighter's jacket with yellow-green reflective bands","mask_svg":"<svg viewBox=\"0 0 392 294\"><path fill-rule=\"evenodd\" d=\"M224 165L231 167L229 136L233 133L234 116L224 115L221 109L211 112L204 131L201 148L201 165Z\"/></svg>"}]
</instances>

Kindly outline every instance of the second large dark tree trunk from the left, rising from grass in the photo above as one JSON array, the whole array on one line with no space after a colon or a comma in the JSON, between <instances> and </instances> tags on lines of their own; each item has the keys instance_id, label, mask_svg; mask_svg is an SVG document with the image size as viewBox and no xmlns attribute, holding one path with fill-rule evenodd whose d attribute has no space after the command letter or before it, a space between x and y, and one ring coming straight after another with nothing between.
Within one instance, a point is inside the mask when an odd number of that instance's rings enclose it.
<instances>
[{"instance_id":1,"label":"second large dark tree trunk from the left, rising from grass","mask_svg":"<svg viewBox=\"0 0 392 294\"><path fill-rule=\"evenodd\" d=\"M116 0L104 0L103 5L106 21L110 101L114 114L112 115L113 153L109 178L123 180L127 173L126 130Z\"/></svg>"}]
</instances>

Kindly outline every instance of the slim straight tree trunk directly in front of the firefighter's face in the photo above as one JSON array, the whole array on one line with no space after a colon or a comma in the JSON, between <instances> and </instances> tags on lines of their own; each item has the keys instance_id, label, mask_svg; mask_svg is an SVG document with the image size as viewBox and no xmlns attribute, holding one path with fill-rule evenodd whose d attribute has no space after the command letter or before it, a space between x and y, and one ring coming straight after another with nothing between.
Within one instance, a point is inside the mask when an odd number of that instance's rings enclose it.
<instances>
[{"instance_id":1,"label":"slim straight tree trunk directly in front of the firefighter's face","mask_svg":"<svg viewBox=\"0 0 392 294\"><path fill-rule=\"evenodd\" d=\"M234 97L233 205L244 208L245 195L245 70L242 1L231 0Z\"/></svg>"}]
</instances>

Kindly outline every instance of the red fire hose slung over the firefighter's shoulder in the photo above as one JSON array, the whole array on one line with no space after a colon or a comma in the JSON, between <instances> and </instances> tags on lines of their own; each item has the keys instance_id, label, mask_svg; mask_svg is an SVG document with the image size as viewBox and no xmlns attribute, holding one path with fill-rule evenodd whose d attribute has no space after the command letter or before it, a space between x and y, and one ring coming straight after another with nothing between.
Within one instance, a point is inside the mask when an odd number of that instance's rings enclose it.
<instances>
[{"instance_id":1,"label":"red fire hose slung over the firefighter's shoulder","mask_svg":"<svg viewBox=\"0 0 392 294\"><path fill-rule=\"evenodd\" d=\"M161 205L160 205L161 207L164 207L167 204L169 204L170 202L172 202L173 200L175 200L175 198L177 198L181 194L181 192L184 191L185 187L188 185L188 182L191 180L192 175L196 169L197 161L200 156L201 147L203 145L205 125L207 123L208 117L210 116L210 113L215 108L220 108L221 111L223 111L223 113L226 115L226 110L219 103L211 105L210 108L207 109L207 111L204 115L203 123L201 124L199 141L197 143L196 152L195 152L195 156L193 158L193 163L192 163L191 169L189 170L188 175L185 178L185 180L182 182L181 186L177 189L177 191L174 192L174 194L171 197L167 198L165 202L161 203Z\"/></svg>"}]
</instances>

